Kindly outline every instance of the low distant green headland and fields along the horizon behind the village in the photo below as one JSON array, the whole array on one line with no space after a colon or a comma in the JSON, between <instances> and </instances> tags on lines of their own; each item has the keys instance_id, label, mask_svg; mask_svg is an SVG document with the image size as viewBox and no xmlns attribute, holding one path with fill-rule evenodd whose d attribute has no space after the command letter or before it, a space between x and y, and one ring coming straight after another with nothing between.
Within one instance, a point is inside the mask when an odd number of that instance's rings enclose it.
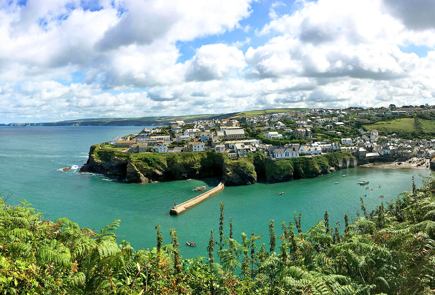
<instances>
[{"instance_id":1,"label":"low distant green headland and fields along the horizon behind the village","mask_svg":"<svg viewBox=\"0 0 435 295\"><path fill-rule=\"evenodd\" d=\"M228 114L198 114L186 116L136 117L136 118L91 118L49 123L9 123L7 126L159 126L175 120L186 123L207 119L237 119L243 116L258 116L278 112L301 111L307 109L260 109L255 111ZM1 124L0 124L1 126Z\"/></svg>"}]
</instances>

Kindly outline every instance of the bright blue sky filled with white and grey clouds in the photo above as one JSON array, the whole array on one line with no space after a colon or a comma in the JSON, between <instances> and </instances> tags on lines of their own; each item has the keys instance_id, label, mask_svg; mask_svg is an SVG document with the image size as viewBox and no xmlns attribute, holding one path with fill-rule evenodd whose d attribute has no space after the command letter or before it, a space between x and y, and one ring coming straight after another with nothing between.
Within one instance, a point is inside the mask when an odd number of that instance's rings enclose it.
<instances>
[{"instance_id":1,"label":"bright blue sky filled with white and grey clouds","mask_svg":"<svg viewBox=\"0 0 435 295\"><path fill-rule=\"evenodd\" d=\"M0 0L0 123L435 104L434 0Z\"/></svg>"}]
</instances>

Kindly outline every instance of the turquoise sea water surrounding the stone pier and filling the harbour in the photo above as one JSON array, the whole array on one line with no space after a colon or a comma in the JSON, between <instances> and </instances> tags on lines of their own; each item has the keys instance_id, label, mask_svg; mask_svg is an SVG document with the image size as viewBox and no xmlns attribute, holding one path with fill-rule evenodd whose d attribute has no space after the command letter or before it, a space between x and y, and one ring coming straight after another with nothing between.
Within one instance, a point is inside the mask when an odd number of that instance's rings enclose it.
<instances>
[{"instance_id":1,"label":"turquoise sea water surrounding the stone pier and filling the harbour","mask_svg":"<svg viewBox=\"0 0 435 295\"><path fill-rule=\"evenodd\" d=\"M154 227L161 225L164 243L170 242L169 229L177 229L181 254L184 257L207 255L209 230L219 228L219 202L225 204L225 229L233 217L234 237L240 232L264 234L268 242L268 225L293 221L293 212L302 211L302 228L309 229L329 212L331 226L343 216L355 217L364 197L368 211L381 201L395 199L398 193L411 188L411 177L428 169L344 169L314 179L301 179L275 184L257 183L250 186L226 187L223 192L178 215L169 209L198 193L197 186L214 186L218 179L184 180L149 184L129 184L103 176L58 171L68 166L81 166L87 160L89 147L113 136L137 132L142 127L56 126L0 127L0 192L13 192L8 201L15 204L21 198L52 220L68 217L82 227L101 229L115 219L121 219L119 239L131 242L135 249L152 248L156 244ZM348 177L342 177L342 174ZM356 185L368 179L366 186ZM335 185L335 182L340 182ZM418 184L421 179L417 177ZM379 189L378 186L381 185ZM279 192L285 192L279 195ZM384 199L378 198L385 195ZM218 239L218 238L217 238ZM197 242L188 247L186 241Z\"/></svg>"}]
</instances>

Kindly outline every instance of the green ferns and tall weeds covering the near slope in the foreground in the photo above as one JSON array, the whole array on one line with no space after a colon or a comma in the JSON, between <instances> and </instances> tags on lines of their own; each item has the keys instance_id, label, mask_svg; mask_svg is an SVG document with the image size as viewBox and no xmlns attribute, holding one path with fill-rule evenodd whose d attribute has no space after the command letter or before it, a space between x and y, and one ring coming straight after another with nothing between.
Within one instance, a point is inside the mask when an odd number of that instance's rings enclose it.
<instances>
[{"instance_id":1,"label":"green ferns and tall weeds covering the near slope in the foreground","mask_svg":"<svg viewBox=\"0 0 435 295\"><path fill-rule=\"evenodd\" d=\"M325 219L301 231L301 213L280 230L233 235L224 205L210 232L208 260L183 259L177 232L163 245L156 226L152 250L131 248L114 231L100 232L61 218L44 220L25 200L0 201L2 294L433 294L435 291L435 180L332 228ZM229 231L227 231L227 224ZM278 227L278 226L277 226ZM277 233L279 232L279 233ZM214 237L216 236L216 237Z\"/></svg>"}]
</instances>

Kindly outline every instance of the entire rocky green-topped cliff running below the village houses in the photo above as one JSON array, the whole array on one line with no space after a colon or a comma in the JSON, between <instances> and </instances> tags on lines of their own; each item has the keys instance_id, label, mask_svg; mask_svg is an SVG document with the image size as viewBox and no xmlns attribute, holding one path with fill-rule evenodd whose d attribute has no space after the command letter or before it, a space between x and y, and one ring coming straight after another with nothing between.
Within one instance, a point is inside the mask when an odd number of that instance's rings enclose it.
<instances>
[{"instance_id":1,"label":"entire rocky green-topped cliff running below the village houses","mask_svg":"<svg viewBox=\"0 0 435 295\"><path fill-rule=\"evenodd\" d=\"M357 165L357 159L348 152L278 160L253 154L232 160L218 152L130 154L94 145L80 172L103 174L134 183L219 177L225 186L240 186L312 178Z\"/></svg>"}]
</instances>

